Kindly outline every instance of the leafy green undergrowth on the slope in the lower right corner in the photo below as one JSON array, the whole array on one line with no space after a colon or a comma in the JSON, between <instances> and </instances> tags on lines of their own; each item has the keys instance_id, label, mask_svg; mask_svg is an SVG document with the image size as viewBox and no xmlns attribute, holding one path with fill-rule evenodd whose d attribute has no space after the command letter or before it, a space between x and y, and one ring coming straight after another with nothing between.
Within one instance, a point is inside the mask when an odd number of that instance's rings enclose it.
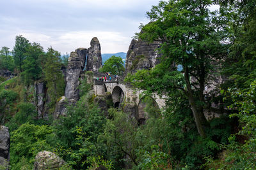
<instances>
[{"instance_id":1,"label":"leafy green undergrowth on the slope in the lower right corner","mask_svg":"<svg viewBox=\"0 0 256 170\"><path fill-rule=\"evenodd\" d=\"M238 117L241 125L241 131L228 138L229 145L225 147L227 150L218 162L220 169L255 169L256 155L256 117L255 117L255 95L256 81L253 81L247 89L229 89L224 93L225 96L230 95L232 104L230 109L238 110L230 117ZM242 143L238 143L237 139L243 139ZM207 166L211 167L216 164L216 160L208 162Z\"/></svg>"}]
</instances>

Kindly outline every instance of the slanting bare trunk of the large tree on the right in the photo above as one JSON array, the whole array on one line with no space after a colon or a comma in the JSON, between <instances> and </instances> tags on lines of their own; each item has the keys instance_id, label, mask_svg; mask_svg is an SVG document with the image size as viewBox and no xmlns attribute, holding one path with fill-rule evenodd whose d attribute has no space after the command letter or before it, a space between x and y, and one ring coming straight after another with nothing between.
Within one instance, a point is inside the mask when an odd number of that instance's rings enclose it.
<instances>
[{"instance_id":1,"label":"slanting bare trunk of the large tree on the right","mask_svg":"<svg viewBox=\"0 0 256 170\"><path fill-rule=\"evenodd\" d=\"M190 80L189 80L189 73L188 73L188 66L185 67L185 81L186 81L186 85L187 85L187 89L188 89L188 99L189 99L189 104L191 106L192 112L193 112L193 116L195 118L195 123L196 123L196 128L198 133L200 134L200 136L202 136L203 138L206 137L204 129L202 127L202 122L200 119L200 111L198 111L198 109L196 108L196 103L195 103L195 99L193 96L193 91L191 89L191 84L190 84Z\"/></svg>"}]
</instances>

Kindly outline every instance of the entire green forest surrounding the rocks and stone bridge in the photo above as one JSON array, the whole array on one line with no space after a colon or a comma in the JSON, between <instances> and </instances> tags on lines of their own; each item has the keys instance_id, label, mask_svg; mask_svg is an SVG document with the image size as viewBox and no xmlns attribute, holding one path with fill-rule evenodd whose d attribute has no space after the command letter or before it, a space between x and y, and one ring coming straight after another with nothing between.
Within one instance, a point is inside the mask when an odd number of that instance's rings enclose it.
<instances>
[{"instance_id":1,"label":"entire green forest surrounding the rocks and stone bridge","mask_svg":"<svg viewBox=\"0 0 256 170\"><path fill-rule=\"evenodd\" d=\"M147 96L143 124L125 101L114 108L109 92L95 96L92 71L56 117L63 73L78 55L44 52L23 36L12 52L2 47L0 68L13 76L0 77L0 121L10 132L10 162L0 169L33 169L42 151L58 155L56 169L256 169L256 1L160 1L147 17L136 38L159 43L159 64L125 71L124 80ZM136 55L129 68L145 60Z\"/></svg>"}]
</instances>

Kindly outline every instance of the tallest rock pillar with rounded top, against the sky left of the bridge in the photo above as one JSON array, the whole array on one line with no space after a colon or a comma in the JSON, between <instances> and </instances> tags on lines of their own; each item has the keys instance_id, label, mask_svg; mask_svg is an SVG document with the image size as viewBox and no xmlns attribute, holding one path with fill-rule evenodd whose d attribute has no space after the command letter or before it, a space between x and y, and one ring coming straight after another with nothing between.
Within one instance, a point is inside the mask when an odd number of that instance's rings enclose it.
<instances>
[{"instance_id":1,"label":"tallest rock pillar with rounded top, against the sky left of the bridge","mask_svg":"<svg viewBox=\"0 0 256 170\"><path fill-rule=\"evenodd\" d=\"M100 42L95 37L91 41L91 47L87 50L86 70L97 72L100 67L102 67Z\"/></svg>"}]
</instances>

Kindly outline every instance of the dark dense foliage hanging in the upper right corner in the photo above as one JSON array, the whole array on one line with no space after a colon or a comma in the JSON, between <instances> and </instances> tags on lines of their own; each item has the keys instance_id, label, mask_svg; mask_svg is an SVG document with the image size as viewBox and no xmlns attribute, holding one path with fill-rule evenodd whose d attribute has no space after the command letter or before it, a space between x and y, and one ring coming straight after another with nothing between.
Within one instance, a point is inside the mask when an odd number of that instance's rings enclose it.
<instances>
[{"instance_id":1,"label":"dark dense foliage hanging in the upper right corner","mask_svg":"<svg viewBox=\"0 0 256 170\"><path fill-rule=\"evenodd\" d=\"M229 20L230 53L225 62L225 74L232 80L229 87L248 88L255 79L256 2L232 1L221 6L222 15ZM233 84L233 85L232 85Z\"/></svg>"}]
</instances>

